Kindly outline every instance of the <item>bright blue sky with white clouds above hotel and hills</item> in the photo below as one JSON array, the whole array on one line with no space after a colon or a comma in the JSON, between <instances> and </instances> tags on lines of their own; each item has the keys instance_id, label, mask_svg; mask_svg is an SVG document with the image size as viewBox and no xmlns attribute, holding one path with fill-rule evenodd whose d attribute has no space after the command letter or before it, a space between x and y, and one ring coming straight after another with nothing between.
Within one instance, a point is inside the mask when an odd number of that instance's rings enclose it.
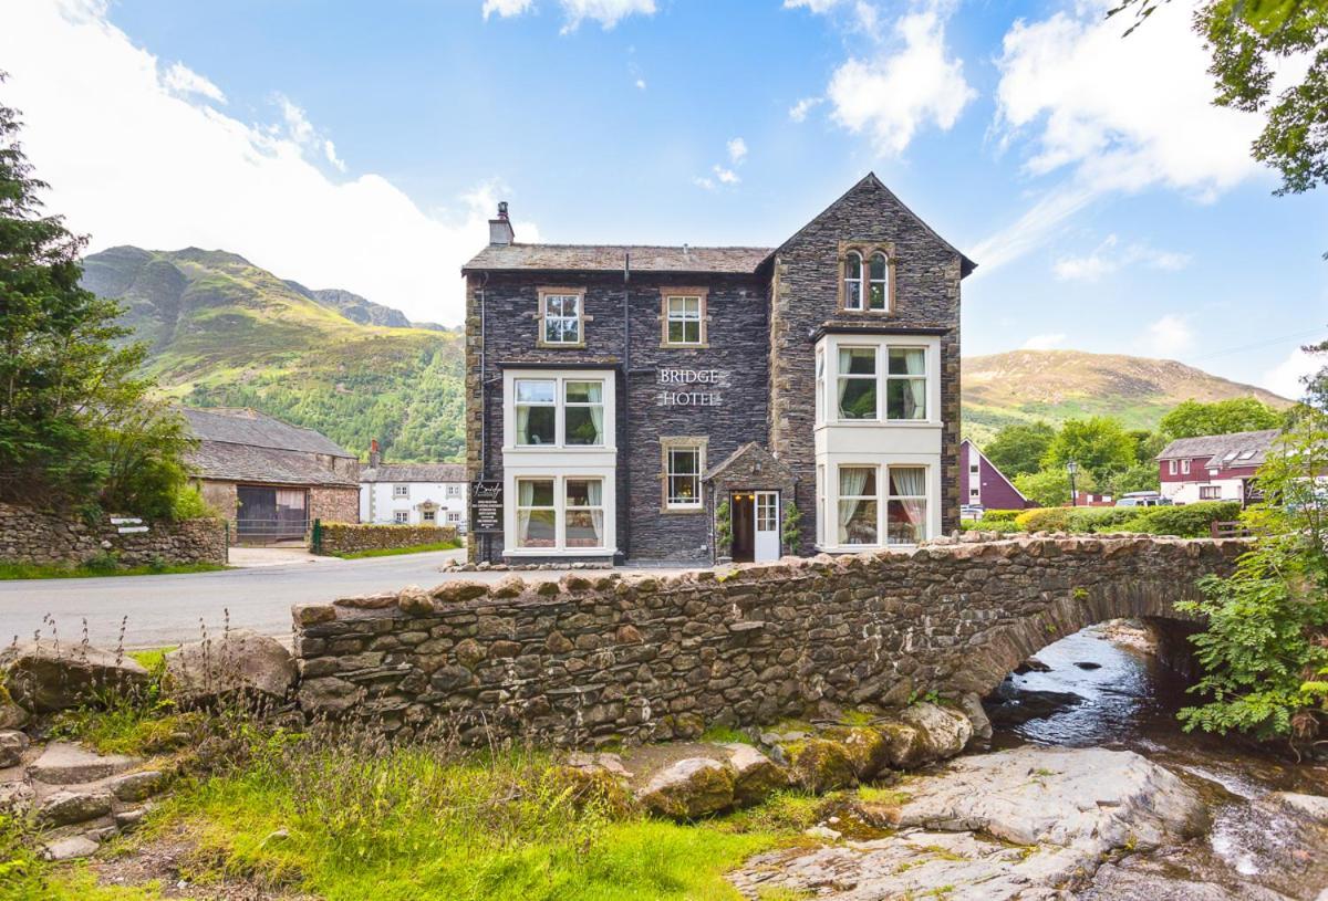
<instances>
[{"instance_id":1,"label":"bright blue sky with white clouds above hotel and hills","mask_svg":"<svg viewBox=\"0 0 1328 901\"><path fill-rule=\"evenodd\" d=\"M1163 356L1284 393L1328 192L1274 198L1171 4L0 0L0 98L93 248L220 247L456 322L518 240L777 244L874 170L979 263L968 354Z\"/></svg>"}]
</instances>

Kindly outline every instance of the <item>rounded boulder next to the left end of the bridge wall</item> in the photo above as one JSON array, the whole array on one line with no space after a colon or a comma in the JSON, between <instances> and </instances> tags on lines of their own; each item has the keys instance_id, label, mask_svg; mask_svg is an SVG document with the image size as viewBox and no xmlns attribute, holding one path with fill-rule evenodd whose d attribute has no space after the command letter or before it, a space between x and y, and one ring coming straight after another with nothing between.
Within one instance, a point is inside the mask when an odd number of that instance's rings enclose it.
<instances>
[{"instance_id":1,"label":"rounded boulder next to the left end of the bridge wall","mask_svg":"<svg viewBox=\"0 0 1328 901\"><path fill-rule=\"evenodd\" d=\"M236 629L166 654L165 686L189 705L234 695L282 702L295 686L295 659L276 638Z\"/></svg>"}]
</instances>

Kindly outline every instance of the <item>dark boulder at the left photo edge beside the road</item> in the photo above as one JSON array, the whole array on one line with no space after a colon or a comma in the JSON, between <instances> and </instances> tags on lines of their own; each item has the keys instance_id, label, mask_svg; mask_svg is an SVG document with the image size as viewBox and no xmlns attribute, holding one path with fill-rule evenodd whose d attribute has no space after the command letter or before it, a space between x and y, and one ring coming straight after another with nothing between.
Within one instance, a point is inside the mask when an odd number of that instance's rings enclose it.
<instances>
[{"instance_id":1,"label":"dark boulder at the left photo edge beside the road","mask_svg":"<svg viewBox=\"0 0 1328 901\"><path fill-rule=\"evenodd\" d=\"M28 641L0 652L0 674L9 697L36 713L53 713L131 693L147 685L137 661L90 645Z\"/></svg>"}]
</instances>

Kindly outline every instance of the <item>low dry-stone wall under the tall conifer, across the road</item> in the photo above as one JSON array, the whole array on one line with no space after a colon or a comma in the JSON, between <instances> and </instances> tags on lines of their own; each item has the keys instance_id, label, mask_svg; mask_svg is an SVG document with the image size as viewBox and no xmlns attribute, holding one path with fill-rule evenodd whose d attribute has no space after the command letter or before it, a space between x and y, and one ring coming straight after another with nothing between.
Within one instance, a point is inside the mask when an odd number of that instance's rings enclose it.
<instances>
[{"instance_id":1,"label":"low dry-stone wall under the tall conifer, across the road","mask_svg":"<svg viewBox=\"0 0 1328 901\"><path fill-rule=\"evenodd\" d=\"M121 533L110 518L89 525L76 516L0 503L0 561L76 567L101 553L121 565L226 563L219 519L145 521L146 532Z\"/></svg>"}]
</instances>

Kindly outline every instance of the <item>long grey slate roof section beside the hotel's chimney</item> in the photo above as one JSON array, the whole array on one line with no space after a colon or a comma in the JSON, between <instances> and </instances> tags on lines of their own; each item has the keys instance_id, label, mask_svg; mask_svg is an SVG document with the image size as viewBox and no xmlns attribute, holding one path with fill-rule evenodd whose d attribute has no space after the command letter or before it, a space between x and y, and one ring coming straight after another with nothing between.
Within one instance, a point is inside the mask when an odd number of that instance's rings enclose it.
<instances>
[{"instance_id":1,"label":"long grey slate roof section beside the hotel's chimney","mask_svg":"<svg viewBox=\"0 0 1328 901\"><path fill-rule=\"evenodd\" d=\"M546 272L729 272L749 275L773 252L769 247L656 247L644 244L491 244L461 271Z\"/></svg>"}]
</instances>

